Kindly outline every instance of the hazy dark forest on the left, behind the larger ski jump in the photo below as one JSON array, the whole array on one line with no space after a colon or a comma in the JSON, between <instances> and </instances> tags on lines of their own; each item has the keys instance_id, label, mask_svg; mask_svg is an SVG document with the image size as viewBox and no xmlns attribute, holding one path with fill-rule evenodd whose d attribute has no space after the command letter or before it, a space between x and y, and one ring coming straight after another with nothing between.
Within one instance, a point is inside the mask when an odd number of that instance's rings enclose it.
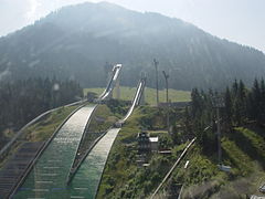
<instances>
[{"instance_id":1,"label":"hazy dark forest on the left, behind the larger ski jump","mask_svg":"<svg viewBox=\"0 0 265 199\"><path fill-rule=\"evenodd\" d=\"M83 90L77 82L28 78L0 84L0 144L3 130L18 130L41 113L77 101Z\"/></svg>"}]
</instances>

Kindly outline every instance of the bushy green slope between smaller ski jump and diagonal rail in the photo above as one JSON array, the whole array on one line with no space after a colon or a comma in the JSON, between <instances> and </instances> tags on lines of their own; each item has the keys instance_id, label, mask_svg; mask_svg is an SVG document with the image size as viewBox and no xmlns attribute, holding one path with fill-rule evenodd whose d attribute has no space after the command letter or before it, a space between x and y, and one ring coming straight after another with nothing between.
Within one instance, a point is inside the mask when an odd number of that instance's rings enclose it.
<instances>
[{"instance_id":1,"label":"bushy green slope between smaller ski jump and diagonal rail","mask_svg":"<svg viewBox=\"0 0 265 199\"><path fill-rule=\"evenodd\" d=\"M146 169L137 167L136 163L137 134L148 119L157 115L155 107L140 107L126 122L112 147L97 198L142 198L148 196L166 175L172 160L183 148L182 145L173 148L172 156L153 154L149 157L150 166ZM165 124L157 123L153 126L159 125L161 127ZM162 130L151 134L168 139L168 134Z\"/></svg>"}]
</instances>

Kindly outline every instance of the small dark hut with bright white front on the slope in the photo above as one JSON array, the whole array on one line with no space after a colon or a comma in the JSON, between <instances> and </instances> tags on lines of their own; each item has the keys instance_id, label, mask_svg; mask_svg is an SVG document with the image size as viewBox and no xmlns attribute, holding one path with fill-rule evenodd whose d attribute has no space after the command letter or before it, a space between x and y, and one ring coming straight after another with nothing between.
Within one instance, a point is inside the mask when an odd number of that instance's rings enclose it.
<instances>
[{"instance_id":1,"label":"small dark hut with bright white front on the slope","mask_svg":"<svg viewBox=\"0 0 265 199\"><path fill-rule=\"evenodd\" d=\"M158 151L158 137L150 137L147 132L141 132L137 136L138 140L138 151Z\"/></svg>"}]
</instances>

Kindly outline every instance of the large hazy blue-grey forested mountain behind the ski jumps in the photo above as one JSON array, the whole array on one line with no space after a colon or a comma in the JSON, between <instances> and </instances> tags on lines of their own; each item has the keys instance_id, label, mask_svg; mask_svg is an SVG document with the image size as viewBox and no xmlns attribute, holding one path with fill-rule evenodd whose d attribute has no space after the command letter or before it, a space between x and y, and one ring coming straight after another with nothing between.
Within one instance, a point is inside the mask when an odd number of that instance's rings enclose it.
<instances>
[{"instance_id":1,"label":"large hazy blue-grey forested mountain behind the ski jumps","mask_svg":"<svg viewBox=\"0 0 265 199\"><path fill-rule=\"evenodd\" d=\"M100 2L62 8L0 39L0 80L57 76L83 86L104 86L104 65L123 63L121 84L135 86L152 60L169 72L170 87L220 87L265 74L265 55L158 13ZM163 86L160 73L160 86Z\"/></svg>"}]
</instances>

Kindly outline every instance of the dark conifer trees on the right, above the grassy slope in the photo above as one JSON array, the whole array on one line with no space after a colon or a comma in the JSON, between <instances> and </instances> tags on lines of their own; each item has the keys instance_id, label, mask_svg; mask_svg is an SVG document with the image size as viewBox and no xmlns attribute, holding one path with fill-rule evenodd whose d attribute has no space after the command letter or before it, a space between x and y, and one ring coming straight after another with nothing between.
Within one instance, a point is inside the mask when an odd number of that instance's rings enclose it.
<instances>
[{"instance_id":1,"label":"dark conifer trees on the right, above the grassy slope","mask_svg":"<svg viewBox=\"0 0 265 199\"><path fill-rule=\"evenodd\" d=\"M208 92L193 88L191 104L186 109L186 127L197 136L205 150L211 151L216 142L216 108L223 133L232 133L233 127L254 124L265 126L265 82L255 80L247 88L243 81L234 81L223 92Z\"/></svg>"}]
</instances>

